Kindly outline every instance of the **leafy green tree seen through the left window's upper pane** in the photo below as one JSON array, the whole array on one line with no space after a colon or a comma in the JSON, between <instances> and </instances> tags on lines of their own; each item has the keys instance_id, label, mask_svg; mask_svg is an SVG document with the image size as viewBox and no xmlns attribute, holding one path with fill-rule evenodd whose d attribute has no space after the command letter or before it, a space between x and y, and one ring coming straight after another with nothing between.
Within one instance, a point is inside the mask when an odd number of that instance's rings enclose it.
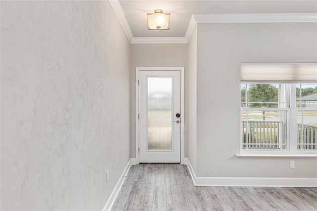
<instances>
[{"instance_id":1,"label":"leafy green tree seen through the left window's upper pane","mask_svg":"<svg viewBox=\"0 0 317 211\"><path fill-rule=\"evenodd\" d=\"M248 102L278 102L278 88L271 84L250 84ZM277 104L251 103L250 107L278 107Z\"/></svg>"}]
</instances>

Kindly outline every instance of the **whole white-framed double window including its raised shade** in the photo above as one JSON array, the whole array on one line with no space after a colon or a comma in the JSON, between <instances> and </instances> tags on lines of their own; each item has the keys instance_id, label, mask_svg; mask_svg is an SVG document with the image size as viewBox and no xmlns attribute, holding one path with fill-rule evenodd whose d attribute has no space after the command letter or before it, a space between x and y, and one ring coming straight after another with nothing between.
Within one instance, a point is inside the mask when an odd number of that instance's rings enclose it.
<instances>
[{"instance_id":1,"label":"whole white-framed double window including its raised shade","mask_svg":"<svg viewBox=\"0 0 317 211\"><path fill-rule=\"evenodd\" d=\"M285 81L281 73L287 69L285 64L273 64L273 68L278 67L277 74L272 71L265 77L259 77L267 74L267 71L261 73L261 68L267 70L271 64L249 65L241 64L241 153L316 154L317 65L312 68L316 74L313 81L304 80L301 74L300 79L294 80L294 74L292 80ZM310 75L309 71L298 69L297 73Z\"/></svg>"}]
</instances>

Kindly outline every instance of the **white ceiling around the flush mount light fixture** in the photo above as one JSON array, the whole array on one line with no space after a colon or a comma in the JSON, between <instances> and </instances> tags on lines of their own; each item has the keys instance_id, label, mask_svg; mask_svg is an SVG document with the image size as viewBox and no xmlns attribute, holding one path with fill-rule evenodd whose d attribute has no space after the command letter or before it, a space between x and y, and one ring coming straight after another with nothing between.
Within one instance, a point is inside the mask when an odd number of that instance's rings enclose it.
<instances>
[{"instance_id":1,"label":"white ceiling around the flush mount light fixture","mask_svg":"<svg viewBox=\"0 0 317 211\"><path fill-rule=\"evenodd\" d=\"M134 38L184 37L192 14L317 13L317 0L119 0ZM169 30L148 30L147 12L170 12Z\"/></svg>"}]
</instances>

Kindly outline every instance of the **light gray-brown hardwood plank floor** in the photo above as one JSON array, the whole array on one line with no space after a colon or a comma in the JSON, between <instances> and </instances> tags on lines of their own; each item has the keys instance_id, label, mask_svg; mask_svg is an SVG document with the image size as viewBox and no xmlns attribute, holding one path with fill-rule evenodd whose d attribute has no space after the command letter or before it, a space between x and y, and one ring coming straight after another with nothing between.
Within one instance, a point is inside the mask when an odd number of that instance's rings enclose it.
<instances>
[{"instance_id":1,"label":"light gray-brown hardwood plank floor","mask_svg":"<svg viewBox=\"0 0 317 211\"><path fill-rule=\"evenodd\" d=\"M112 211L317 211L317 188L195 187L186 165L132 165Z\"/></svg>"}]
</instances>

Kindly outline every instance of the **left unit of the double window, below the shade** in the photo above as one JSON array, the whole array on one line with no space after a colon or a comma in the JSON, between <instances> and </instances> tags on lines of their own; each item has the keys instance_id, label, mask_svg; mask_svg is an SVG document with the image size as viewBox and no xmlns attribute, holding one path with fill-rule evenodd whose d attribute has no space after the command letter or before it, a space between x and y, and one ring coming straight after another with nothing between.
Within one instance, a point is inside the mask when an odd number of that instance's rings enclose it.
<instances>
[{"instance_id":1,"label":"left unit of the double window, below the shade","mask_svg":"<svg viewBox=\"0 0 317 211\"><path fill-rule=\"evenodd\" d=\"M243 150L286 150L284 85L241 84Z\"/></svg>"}]
</instances>

